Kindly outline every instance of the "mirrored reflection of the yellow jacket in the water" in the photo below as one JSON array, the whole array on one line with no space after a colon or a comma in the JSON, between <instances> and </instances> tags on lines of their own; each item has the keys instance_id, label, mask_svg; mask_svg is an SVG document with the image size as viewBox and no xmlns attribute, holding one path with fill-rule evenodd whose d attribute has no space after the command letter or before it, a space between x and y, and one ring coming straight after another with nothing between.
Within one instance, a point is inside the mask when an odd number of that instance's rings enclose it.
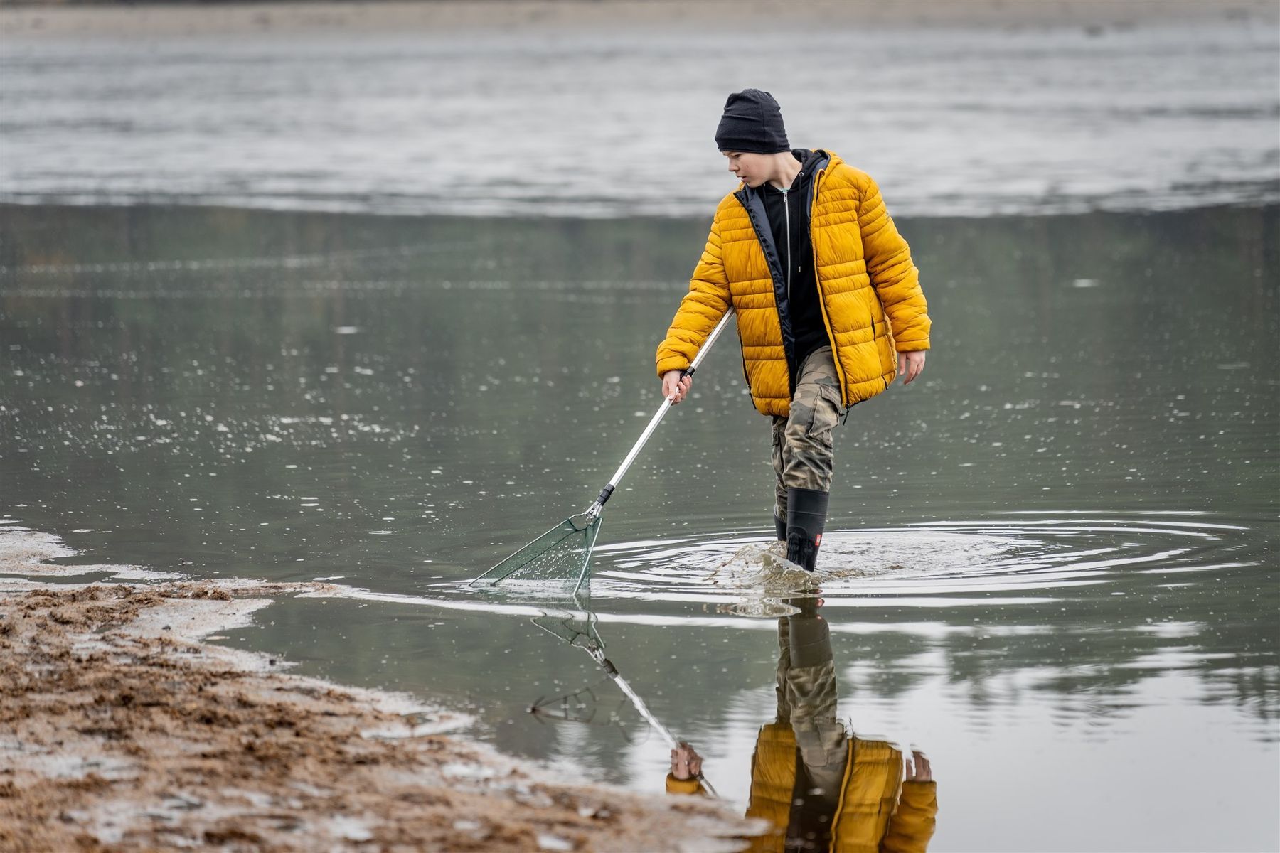
<instances>
[{"instance_id":1,"label":"mirrored reflection of the yellow jacket in the water","mask_svg":"<svg viewBox=\"0 0 1280 853\"><path fill-rule=\"evenodd\" d=\"M831 827L832 853L923 853L933 838L937 785L902 781L902 753L882 740L849 740L844 790ZM751 839L751 853L781 853L796 780L796 739L787 724L760 729L751 758L748 817L773 831ZM667 778L671 793L692 793L696 780Z\"/></svg>"}]
</instances>

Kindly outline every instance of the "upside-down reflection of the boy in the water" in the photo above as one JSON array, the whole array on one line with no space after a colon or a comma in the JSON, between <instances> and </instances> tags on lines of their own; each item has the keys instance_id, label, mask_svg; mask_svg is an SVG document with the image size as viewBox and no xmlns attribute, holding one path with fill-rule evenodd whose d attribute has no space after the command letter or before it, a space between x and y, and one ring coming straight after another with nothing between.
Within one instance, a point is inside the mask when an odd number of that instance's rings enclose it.
<instances>
[{"instance_id":1,"label":"upside-down reflection of the boy in the water","mask_svg":"<svg viewBox=\"0 0 1280 853\"><path fill-rule=\"evenodd\" d=\"M850 738L836 719L836 671L815 599L778 620L778 717L760 729L751 760L748 817L773 824L751 850L924 850L938 810L928 758L882 740ZM667 790L699 793L701 757L671 752Z\"/></svg>"}]
</instances>

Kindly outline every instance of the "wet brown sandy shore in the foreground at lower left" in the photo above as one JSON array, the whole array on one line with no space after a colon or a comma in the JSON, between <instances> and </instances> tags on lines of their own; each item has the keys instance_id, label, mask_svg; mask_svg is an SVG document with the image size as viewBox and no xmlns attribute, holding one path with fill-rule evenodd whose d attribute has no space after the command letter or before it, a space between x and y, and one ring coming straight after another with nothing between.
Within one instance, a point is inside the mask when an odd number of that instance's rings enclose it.
<instances>
[{"instance_id":1,"label":"wet brown sandy shore in the foreground at lower left","mask_svg":"<svg viewBox=\"0 0 1280 853\"><path fill-rule=\"evenodd\" d=\"M0 547L0 574L33 569ZM412 697L202 642L323 586L0 579L0 849L731 850L751 833L718 803L556 779Z\"/></svg>"}]
</instances>

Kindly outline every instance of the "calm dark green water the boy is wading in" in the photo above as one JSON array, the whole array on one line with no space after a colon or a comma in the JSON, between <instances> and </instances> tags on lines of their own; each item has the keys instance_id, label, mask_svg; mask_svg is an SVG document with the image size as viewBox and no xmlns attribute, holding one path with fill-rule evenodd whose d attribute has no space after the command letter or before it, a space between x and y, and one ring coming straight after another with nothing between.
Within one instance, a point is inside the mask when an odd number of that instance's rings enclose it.
<instances>
[{"instance_id":1,"label":"calm dark green water the boy is wading in","mask_svg":"<svg viewBox=\"0 0 1280 853\"><path fill-rule=\"evenodd\" d=\"M900 223L934 350L837 431L820 596L841 715L932 758L937 849L1280 843L1277 217ZM556 636L588 601L466 581L582 510L657 408L703 223L0 228L0 515L76 563L338 579L230 642L662 789L666 742ZM740 804L795 591L760 558L768 441L726 339L609 503L589 597Z\"/></svg>"}]
</instances>

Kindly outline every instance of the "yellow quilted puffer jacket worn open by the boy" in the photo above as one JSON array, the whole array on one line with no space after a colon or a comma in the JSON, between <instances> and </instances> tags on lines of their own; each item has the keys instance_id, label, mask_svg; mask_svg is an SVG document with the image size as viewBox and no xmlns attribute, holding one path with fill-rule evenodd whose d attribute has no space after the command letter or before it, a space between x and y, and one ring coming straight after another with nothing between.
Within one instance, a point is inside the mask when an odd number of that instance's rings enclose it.
<instances>
[{"instance_id":1,"label":"yellow quilted puffer jacket worn open by the boy","mask_svg":"<svg viewBox=\"0 0 1280 853\"><path fill-rule=\"evenodd\" d=\"M929 348L929 316L911 251L884 210L870 175L827 152L813 176L809 229L819 304L836 354L845 405L893 381L896 352ZM787 362L776 288L741 184L716 208L710 237L658 347L658 375L685 370L730 304L737 311L742 366L762 414L786 417L794 368ZM763 212L763 211L762 211ZM768 223L756 223L768 229Z\"/></svg>"}]
</instances>

